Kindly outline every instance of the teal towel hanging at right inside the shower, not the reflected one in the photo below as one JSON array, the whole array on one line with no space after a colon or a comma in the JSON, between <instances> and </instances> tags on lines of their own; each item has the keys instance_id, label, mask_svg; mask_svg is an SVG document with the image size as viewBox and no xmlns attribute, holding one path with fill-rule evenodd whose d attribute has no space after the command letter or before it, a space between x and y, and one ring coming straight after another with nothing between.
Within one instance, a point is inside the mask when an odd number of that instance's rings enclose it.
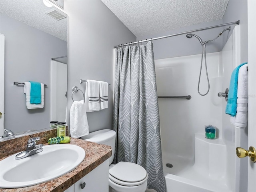
<instances>
[{"instance_id":1,"label":"teal towel hanging at right inside the shower, not the reflected one","mask_svg":"<svg viewBox=\"0 0 256 192\"><path fill-rule=\"evenodd\" d=\"M236 116L236 107L237 107L237 81L238 81L238 71L241 66L246 63L240 64L237 66L234 71L232 72L230 78L230 85L228 90L228 103L226 106L226 114L230 114L231 116Z\"/></svg>"}]
</instances>

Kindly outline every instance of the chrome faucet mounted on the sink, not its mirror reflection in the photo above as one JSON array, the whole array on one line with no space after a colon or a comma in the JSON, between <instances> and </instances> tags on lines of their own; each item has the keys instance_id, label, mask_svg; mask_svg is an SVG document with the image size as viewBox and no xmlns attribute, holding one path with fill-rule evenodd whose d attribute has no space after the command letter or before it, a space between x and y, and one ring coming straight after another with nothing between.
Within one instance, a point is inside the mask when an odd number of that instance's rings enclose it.
<instances>
[{"instance_id":1,"label":"chrome faucet mounted on the sink, not its mirror reflection","mask_svg":"<svg viewBox=\"0 0 256 192\"><path fill-rule=\"evenodd\" d=\"M30 138L28 140L26 150L20 152L18 155L15 156L15 159L23 159L25 157L34 155L36 153L42 152L43 144L36 145L36 142L40 140L40 137Z\"/></svg>"}]
</instances>

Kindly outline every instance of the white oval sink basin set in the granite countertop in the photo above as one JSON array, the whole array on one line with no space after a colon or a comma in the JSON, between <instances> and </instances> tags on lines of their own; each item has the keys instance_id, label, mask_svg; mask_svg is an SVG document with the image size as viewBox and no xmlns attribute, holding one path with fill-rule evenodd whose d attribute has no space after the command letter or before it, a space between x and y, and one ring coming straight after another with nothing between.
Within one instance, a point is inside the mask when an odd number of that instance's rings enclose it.
<instances>
[{"instance_id":1,"label":"white oval sink basin set in the granite countertop","mask_svg":"<svg viewBox=\"0 0 256 192\"><path fill-rule=\"evenodd\" d=\"M18 154L18 153L17 153ZM0 188L20 188L53 180L76 168L85 157L72 144L43 146L43 151L16 160L16 154L0 161Z\"/></svg>"}]
</instances>

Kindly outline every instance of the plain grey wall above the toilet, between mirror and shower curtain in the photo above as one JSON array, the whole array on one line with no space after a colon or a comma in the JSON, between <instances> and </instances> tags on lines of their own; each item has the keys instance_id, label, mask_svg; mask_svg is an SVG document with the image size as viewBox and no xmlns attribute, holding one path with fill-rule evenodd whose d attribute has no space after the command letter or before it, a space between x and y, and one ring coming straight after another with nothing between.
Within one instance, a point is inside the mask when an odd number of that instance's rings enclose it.
<instances>
[{"instance_id":1,"label":"plain grey wall above the toilet, between mirror and shower curtain","mask_svg":"<svg viewBox=\"0 0 256 192\"><path fill-rule=\"evenodd\" d=\"M113 47L134 42L136 37L103 4L97 0L66 0L68 13L68 114L72 105L72 87L83 92L85 84L79 79L101 80L111 84L108 92L108 109L87 113L89 131L112 128L113 106ZM80 93L74 100L81 100Z\"/></svg>"}]
</instances>

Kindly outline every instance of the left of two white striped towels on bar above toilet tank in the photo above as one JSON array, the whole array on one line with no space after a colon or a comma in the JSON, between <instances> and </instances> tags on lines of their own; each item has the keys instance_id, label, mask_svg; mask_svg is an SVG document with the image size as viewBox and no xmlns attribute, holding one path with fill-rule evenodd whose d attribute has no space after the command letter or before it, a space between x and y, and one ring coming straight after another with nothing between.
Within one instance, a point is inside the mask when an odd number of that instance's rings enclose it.
<instances>
[{"instance_id":1,"label":"left of two white striped towels on bar above toilet tank","mask_svg":"<svg viewBox=\"0 0 256 192\"><path fill-rule=\"evenodd\" d=\"M85 107L86 112L100 110L100 90L99 82L95 80L87 80L85 86Z\"/></svg>"}]
</instances>

